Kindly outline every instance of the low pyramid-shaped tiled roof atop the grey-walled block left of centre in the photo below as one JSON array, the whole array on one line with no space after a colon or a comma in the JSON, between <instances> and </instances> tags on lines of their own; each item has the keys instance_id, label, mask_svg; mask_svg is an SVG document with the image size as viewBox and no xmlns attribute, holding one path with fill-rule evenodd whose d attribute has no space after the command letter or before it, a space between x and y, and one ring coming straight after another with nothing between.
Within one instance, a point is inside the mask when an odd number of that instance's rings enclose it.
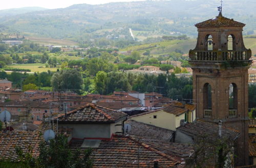
<instances>
[{"instance_id":1,"label":"low pyramid-shaped tiled roof atop the grey-walled block left of centre","mask_svg":"<svg viewBox=\"0 0 256 168\"><path fill-rule=\"evenodd\" d=\"M75 110L69 111L67 116L60 114L56 118L59 119L59 122L115 123L126 116L125 113L88 103Z\"/></svg>"}]
</instances>

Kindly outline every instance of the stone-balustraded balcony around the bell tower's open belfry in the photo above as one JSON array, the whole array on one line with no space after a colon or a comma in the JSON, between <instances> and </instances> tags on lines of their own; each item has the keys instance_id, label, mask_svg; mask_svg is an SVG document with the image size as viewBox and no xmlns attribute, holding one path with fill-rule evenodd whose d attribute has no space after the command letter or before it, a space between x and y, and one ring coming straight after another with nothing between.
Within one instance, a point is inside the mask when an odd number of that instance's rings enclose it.
<instances>
[{"instance_id":1,"label":"stone-balustraded balcony around the bell tower's open belfry","mask_svg":"<svg viewBox=\"0 0 256 168\"><path fill-rule=\"evenodd\" d=\"M189 58L195 61L243 61L249 60L251 50L245 51L189 51Z\"/></svg>"}]
</instances>

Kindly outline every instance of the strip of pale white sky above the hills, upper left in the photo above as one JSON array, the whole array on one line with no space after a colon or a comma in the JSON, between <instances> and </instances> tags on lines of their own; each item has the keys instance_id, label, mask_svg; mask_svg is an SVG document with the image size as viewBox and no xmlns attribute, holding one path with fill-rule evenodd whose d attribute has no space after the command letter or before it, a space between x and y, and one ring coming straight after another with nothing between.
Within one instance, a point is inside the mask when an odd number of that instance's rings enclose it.
<instances>
[{"instance_id":1,"label":"strip of pale white sky above the hills, upper left","mask_svg":"<svg viewBox=\"0 0 256 168\"><path fill-rule=\"evenodd\" d=\"M0 10L22 7L42 7L48 9L66 8L74 4L106 4L110 2L129 2L139 0L12 0L3 1ZM143 1L143 0L140 0Z\"/></svg>"}]
</instances>

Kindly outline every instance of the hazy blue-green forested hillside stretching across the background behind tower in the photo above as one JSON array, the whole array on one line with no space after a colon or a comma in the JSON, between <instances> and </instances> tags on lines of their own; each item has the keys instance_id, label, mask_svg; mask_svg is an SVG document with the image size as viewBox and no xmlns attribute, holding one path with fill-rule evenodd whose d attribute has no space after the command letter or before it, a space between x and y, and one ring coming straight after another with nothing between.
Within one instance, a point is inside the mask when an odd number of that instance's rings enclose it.
<instances>
[{"instance_id":1,"label":"hazy blue-green forested hillside stretching across the background behind tower","mask_svg":"<svg viewBox=\"0 0 256 168\"><path fill-rule=\"evenodd\" d=\"M68 8L43 10L3 16L0 11L0 32L83 41L104 37L100 30L131 28L135 31L180 32L196 35L194 24L217 16L220 2L215 1L143 1L109 3L103 5L79 4ZM246 23L245 33L253 34L256 27L255 0L227 0L223 15ZM10 12L11 13L11 12Z\"/></svg>"}]
</instances>

